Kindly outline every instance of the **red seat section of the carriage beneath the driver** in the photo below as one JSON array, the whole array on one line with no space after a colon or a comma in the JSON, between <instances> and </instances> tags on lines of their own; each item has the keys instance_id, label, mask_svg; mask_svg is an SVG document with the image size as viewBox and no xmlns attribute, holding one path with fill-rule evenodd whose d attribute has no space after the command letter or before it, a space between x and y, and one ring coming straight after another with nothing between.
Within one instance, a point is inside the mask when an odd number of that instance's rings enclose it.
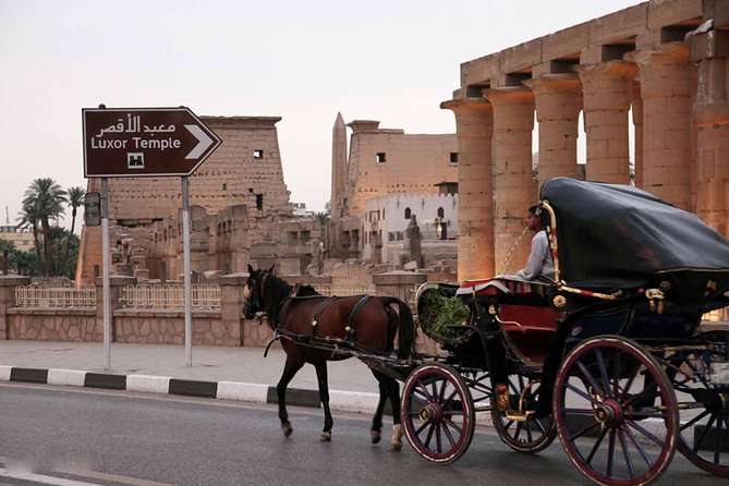
<instances>
[{"instance_id":1,"label":"red seat section of the carriage beneath the driver","mask_svg":"<svg viewBox=\"0 0 729 486\"><path fill-rule=\"evenodd\" d=\"M561 316L549 305L549 283L498 277L466 280L457 293L496 296L498 318L508 340L523 356L542 364Z\"/></svg>"}]
</instances>

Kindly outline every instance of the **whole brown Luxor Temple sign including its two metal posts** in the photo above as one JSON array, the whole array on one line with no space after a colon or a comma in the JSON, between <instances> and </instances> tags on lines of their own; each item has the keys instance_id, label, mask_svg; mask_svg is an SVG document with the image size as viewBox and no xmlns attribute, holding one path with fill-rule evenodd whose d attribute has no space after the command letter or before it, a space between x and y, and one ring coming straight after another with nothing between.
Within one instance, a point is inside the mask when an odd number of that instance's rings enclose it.
<instances>
[{"instance_id":1,"label":"whole brown Luxor Temple sign including its two metal posts","mask_svg":"<svg viewBox=\"0 0 729 486\"><path fill-rule=\"evenodd\" d=\"M222 141L189 108L84 108L84 175L101 178L104 349L111 367L108 178L182 178L185 364L192 366L191 175Z\"/></svg>"}]
</instances>

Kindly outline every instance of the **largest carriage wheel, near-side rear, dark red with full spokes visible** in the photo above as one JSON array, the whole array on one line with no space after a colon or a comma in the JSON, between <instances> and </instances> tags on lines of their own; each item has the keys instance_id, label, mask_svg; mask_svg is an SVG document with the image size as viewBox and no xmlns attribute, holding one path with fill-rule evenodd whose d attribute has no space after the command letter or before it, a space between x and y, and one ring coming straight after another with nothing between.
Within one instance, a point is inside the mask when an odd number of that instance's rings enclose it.
<instances>
[{"instance_id":1,"label":"largest carriage wheel, near-side rear, dark red with full spokes visible","mask_svg":"<svg viewBox=\"0 0 729 486\"><path fill-rule=\"evenodd\" d=\"M639 344L588 339L566 357L552 402L572 463L603 485L644 485L673 458L678 408L670 380Z\"/></svg>"}]
</instances>

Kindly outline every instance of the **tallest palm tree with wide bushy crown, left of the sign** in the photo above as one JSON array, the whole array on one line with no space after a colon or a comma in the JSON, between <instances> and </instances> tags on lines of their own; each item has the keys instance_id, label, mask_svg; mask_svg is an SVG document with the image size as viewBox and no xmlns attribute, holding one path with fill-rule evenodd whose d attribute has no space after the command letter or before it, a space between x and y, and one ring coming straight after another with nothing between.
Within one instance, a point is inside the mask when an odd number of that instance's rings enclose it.
<instances>
[{"instance_id":1,"label":"tallest palm tree with wide bushy crown, left of the sign","mask_svg":"<svg viewBox=\"0 0 729 486\"><path fill-rule=\"evenodd\" d=\"M40 223L42 231L42 259L46 277L50 276L52 268L50 262L50 221L58 222L59 218L65 212L63 204L66 202L66 192L50 178L35 179L25 190L23 210L27 212L27 209L33 208L31 210L35 212L36 224Z\"/></svg>"}]
</instances>

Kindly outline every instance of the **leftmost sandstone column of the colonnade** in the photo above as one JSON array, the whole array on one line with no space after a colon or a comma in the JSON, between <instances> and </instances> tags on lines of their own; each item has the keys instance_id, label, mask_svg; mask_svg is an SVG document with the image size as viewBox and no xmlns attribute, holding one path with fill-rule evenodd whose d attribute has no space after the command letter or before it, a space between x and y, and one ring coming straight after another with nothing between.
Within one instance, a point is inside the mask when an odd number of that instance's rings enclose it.
<instances>
[{"instance_id":1,"label":"leftmost sandstone column of the colonnade","mask_svg":"<svg viewBox=\"0 0 729 486\"><path fill-rule=\"evenodd\" d=\"M455 114L459 145L458 279L494 275L491 106L485 99L446 101Z\"/></svg>"}]
</instances>

